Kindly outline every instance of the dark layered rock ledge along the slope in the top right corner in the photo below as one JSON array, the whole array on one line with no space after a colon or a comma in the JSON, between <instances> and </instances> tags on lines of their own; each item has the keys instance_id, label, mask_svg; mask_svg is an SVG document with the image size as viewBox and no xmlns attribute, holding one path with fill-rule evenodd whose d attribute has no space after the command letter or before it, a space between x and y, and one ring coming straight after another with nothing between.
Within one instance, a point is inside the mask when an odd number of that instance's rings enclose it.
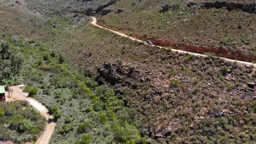
<instances>
[{"instance_id":1,"label":"dark layered rock ledge along the slope in the top right corner","mask_svg":"<svg viewBox=\"0 0 256 144\"><path fill-rule=\"evenodd\" d=\"M235 2L206 2L201 4L201 8L205 9L211 9L211 8L216 8L216 9L222 9L226 8L228 10L233 10L233 9L241 9L247 13L256 13L256 3L235 3Z\"/></svg>"}]
</instances>

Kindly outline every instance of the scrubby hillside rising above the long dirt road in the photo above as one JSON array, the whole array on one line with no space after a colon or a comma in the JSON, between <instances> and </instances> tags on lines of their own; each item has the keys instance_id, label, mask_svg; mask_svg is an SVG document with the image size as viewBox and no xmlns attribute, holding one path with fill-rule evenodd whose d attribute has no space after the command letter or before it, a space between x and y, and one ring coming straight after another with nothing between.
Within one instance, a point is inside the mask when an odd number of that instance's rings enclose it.
<instances>
[{"instance_id":1,"label":"scrubby hillside rising above the long dirt road","mask_svg":"<svg viewBox=\"0 0 256 144\"><path fill-rule=\"evenodd\" d=\"M98 16L98 23L142 40L191 52L256 61L255 1L47 1L44 9ZM160 41L159 41L160 40ZM163 44L164 40L167 44ZM219 53L220 49L222 53Z\"/></svg>"}]
</instances>

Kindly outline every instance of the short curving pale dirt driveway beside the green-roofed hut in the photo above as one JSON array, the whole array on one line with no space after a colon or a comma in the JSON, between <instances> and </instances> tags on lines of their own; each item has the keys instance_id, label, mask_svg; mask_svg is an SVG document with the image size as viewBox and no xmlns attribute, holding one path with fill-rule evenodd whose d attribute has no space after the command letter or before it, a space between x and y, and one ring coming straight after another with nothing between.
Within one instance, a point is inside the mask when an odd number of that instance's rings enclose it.
<instances>
[{"instance_id":1,"label":"short curving pale dirt driveway beside the green-roofed hut","mask_svg":"<svg viewBox=\"0 0 256 144\"><path fill-rule=\"evenodd\" d=\"M30 105L35 107L45 118L47 121L46 128L44 130L44 133L40 135L40 137L37 140L37 144L48 144L51 138L51 135L53 134L54 128L56 123L53 121L53 117L48 114L48 110L45 106L43 106L41 103L39 103L37 100L34 100L32 98L28 97L28 93L24 93L21 89L23 85L21 86L12 86L10 87L13 89L13 94L10 98L7 98L7 101L13 101L13 100L26 100Z\"/></svg>"}]
</instances>

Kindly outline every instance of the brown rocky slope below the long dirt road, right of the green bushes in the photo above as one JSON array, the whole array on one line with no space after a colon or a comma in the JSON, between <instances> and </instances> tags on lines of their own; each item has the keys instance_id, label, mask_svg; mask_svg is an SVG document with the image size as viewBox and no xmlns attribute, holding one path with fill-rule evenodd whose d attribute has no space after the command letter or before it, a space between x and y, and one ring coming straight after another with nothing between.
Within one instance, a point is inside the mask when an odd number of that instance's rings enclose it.
<instances>
[{"instance_id":1,"label":"brown rocky slope below the long dirt road, right of the green bushes","mask_svg":"<svg viewBox=\"0 0 256 144\"><path fill-rule=\"evenodd\" d=\"M232 111L239 111L240 106L255 107L255 91L246 90L246 83L255 81L255 69L250 66L211 56L201 58L159 50L89 24L57 44L56 49L75 68L91 70L97 74L97 81L110 83L126 106L137 109L143 135L162 142L219 141L218 130L213 129L216 135L211 136L205 127L223 127L220 123L223 120L229 127L236 127L235 123L229 123L240 121ZM239 117L245 118L242 115ZM251 116L248 119L255 118ZM229 141L233 134L228 129L222 130L227 136L222 142Z\"/></svg>"}]
</instances>

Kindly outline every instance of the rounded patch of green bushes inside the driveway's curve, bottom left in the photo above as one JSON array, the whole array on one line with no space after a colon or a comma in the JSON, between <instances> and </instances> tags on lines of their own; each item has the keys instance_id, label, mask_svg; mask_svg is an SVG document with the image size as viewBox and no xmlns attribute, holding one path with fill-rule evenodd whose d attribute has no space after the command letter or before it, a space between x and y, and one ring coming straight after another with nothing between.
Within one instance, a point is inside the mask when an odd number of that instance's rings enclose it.
<instances>
[{"instance_id":1,"label":"rounded patch of green bushes inside the driveway's curve, bottom left","mask_svg":"<svg viewBox=\"0 0 256 144\"><path fill-rule=\"evenodd\" d=\"M45 118L27 101L0 103L0 141L36 141L45 124Z\"/></svg>"}]
</instances>

